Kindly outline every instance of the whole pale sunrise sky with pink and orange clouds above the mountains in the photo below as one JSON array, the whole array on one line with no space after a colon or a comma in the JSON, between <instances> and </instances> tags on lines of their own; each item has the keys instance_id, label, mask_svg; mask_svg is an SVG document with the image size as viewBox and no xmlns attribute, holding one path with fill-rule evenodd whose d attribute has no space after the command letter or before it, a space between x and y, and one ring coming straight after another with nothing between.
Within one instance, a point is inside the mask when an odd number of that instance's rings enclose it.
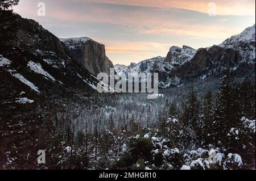
<instances>
[{"instance_id":1,"label":"whole pale sunrise sky with pink and orange clouds above the mountains","mask_svg":"<svg viewBox=\"0 0 256 181\"><path fill-rule=\"evenodd\" d=\"M46 16L38 16L39 2ZM210 2L216 16L208 14ZM57 37L105 44L110 60L125 65L166 56L173 45L220 44L255 24L255 0L20 0L14 11Z\"/></svg>"}]
</instances>

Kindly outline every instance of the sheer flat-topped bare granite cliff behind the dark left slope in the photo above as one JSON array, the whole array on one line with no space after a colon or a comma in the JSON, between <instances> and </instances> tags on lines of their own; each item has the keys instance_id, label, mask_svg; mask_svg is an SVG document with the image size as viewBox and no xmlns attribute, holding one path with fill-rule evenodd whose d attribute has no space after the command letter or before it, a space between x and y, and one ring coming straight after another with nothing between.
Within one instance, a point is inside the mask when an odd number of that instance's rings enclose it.
<instances>
[{"instance_id":1,"label":"sheer flat-topped bare granite cliff behind the dark left slope","mask_svg":"<svg viewBox=\"0 0 256 181\"><path fill-rule=\"evenodd\" d=\"M114 68L112 61L105 54L105 45L88 37L60 39L67 45L70 56L94 75Z\"/></svg>"}]
</instances>

